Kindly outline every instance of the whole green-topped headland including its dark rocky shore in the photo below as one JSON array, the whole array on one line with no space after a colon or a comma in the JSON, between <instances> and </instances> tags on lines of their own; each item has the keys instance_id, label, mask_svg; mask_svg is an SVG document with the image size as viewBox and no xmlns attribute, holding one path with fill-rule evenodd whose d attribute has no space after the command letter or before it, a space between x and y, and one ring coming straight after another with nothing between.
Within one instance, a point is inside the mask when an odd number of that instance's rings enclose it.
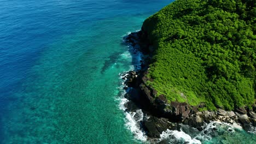
<instances>
[{"instance_id":1,"label":"whole green-topped headland including its dark rocky shore","mask_svg":"<svg viewBox=\"0 0 256 144\"><path fill-rule=\"evenodd\" d=\"M143 53L141 69L124 74L125 106L151 116L149 137L171 122L256 126L255 14L253 0L177 0L124 38Z\"/></svg>"}]
</instances>

